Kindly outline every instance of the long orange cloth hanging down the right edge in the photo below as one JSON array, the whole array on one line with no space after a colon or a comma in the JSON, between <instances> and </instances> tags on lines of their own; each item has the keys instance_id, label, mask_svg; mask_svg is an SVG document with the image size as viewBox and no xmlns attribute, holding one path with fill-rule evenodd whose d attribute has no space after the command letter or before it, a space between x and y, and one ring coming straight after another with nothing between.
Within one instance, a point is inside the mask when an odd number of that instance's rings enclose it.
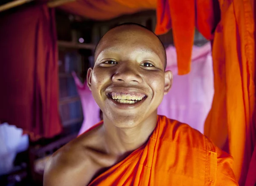
<instances>
[{"instance_id":1,"label":"long orange cloth hanging down the right edge","mask_svg":"<svg viewBox=\"0 0 256 186\"><path fill-rule=\"evenodd\" d=\"M215 95L205 135L222 147L228 136L234 172L244 185L256 143L254 14L250 0L220 0L212 46Z\"/></svg>"}]
</instances>

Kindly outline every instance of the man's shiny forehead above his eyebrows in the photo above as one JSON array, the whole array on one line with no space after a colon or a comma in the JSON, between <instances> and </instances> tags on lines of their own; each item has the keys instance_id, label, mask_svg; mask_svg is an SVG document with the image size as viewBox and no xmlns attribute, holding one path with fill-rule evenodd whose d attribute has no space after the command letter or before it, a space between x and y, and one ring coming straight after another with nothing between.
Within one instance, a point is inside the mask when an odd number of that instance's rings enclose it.
<instances>
[{"instance_id":1,"label":"man's shiny forehead above his eyebrows","mask_svg":"<svg viewBox=\"0 0 256 186\"><path fill-rule=\"evenodd\" d=\"M129 51L139 49L140 52L151 52L162 55L161 44L157 36L138 26L123 26L109 31L99 42L95 56L102 51Z\"/></svg>"}]
</instances>

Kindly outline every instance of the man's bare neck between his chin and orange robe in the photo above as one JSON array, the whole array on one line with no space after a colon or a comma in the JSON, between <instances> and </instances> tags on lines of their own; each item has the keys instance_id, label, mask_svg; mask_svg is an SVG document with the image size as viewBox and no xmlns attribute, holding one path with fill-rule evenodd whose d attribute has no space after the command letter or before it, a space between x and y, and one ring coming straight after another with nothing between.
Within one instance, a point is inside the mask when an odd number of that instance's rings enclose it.
<instances>
[{"instance_id":1,"label":"man's bare neck between his chin and orange robe","mask_svg":"<svg viewBox=\"0 0 256 186\"><path fill-rule=\"evenodd\" d=\"M122 157L139 148L151 136L157 124L157 112L133 128L118 128L112 121L104 119L105 146L109 154Z\"/></svg>"}]
</instances>

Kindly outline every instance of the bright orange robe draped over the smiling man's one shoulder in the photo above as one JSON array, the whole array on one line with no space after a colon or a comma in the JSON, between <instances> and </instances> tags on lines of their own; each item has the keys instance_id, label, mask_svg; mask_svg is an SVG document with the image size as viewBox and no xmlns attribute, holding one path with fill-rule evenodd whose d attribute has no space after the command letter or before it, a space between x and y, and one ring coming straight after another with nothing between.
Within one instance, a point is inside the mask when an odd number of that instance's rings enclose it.
<instances>
[{"instance_id":1,"label":"bright orange robe draped over the smiling man's one shoulder","mask_svg":"<svg viewBox=\"0 0 256 186\"><path fill-rule=\"evenodd\" d=\"M90 186L233 186L233 159L199 131L157 117L148 142Z\"/></svg>"}]
</instances>

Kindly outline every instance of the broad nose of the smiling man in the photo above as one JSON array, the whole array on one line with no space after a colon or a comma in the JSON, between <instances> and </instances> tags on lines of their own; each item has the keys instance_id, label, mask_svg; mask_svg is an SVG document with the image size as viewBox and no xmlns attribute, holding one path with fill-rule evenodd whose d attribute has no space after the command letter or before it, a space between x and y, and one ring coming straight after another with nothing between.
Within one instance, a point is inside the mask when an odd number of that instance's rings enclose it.
<instances>
[{"instance_id":1,"label":"broad nose of the smiling man","mask_svg":"<svg viewBox=\"0 0 256 186\"><path fill-rule=\"evenodd\" d=\"M113 82L123 82L123 83L131 83L131 84L140 84L142 82L142 78L137 69L129 67L125 65L116 70L115 74L112 76Z\"/></svg>"}]
</instances>

